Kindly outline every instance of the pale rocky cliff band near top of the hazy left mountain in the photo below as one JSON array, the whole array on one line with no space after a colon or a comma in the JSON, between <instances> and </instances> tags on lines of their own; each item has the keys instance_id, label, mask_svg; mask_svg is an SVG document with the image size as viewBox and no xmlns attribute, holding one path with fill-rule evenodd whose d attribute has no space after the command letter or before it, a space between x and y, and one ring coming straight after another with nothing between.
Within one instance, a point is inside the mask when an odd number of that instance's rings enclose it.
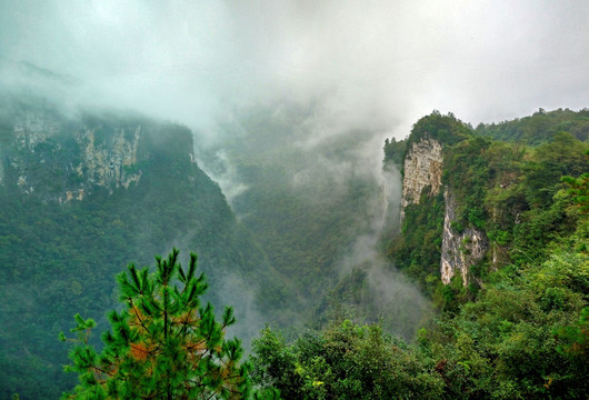
<instances>
[{"instance_id":1,"label":"pale rocky cliff band near top of the hazy left mountain","mask_svg":"<svg viewBox=\"0 0 589 400\"><path fill-rule=\"evenodd\" d=\"M141 124L104 127L34 110L16 118L11 136L11 144L2 151L8 162L0 166L0 183L10 172L26 194L68 202L82 200L99 187L112 192L141 179Z\"/></svg>"}]
</instances>

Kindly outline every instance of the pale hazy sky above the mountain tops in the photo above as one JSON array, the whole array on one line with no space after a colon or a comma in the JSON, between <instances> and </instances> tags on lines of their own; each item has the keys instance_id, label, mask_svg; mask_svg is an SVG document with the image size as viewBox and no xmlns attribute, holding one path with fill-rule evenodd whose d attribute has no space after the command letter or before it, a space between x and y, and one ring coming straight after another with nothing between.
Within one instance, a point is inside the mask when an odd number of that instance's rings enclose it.
<instances>
[{"instance_id":1,"label":"pale hazy sky above the mountain tops","mask_svg":"<svg viewBox=\"0 0 589 400\"><path fill-rule=\"evenodd\" d=\"M589 107L585 0L3 0L0 80L211 130L315 102L402 138L432 109L477 124Z\"/></svg>"}]
</instances>

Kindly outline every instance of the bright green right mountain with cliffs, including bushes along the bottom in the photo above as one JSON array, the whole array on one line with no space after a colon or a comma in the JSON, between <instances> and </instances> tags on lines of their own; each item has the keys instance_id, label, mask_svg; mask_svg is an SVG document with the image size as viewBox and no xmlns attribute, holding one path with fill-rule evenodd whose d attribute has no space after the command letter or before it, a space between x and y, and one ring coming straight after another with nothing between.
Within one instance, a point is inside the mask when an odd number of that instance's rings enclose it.
<instances>
[{"instance_id":1,"label":"bright green right mountain with cliffs, including bushes along the bottom","mask_svg":"<svg viewBox=\"0 0 589 400\"><path fill-rule=\"evenodd\" d=\"M268 328L253 343L253 378L267 393L587 398L589 143L562 130L529 141L480 130L435 111L406 140L385 143L386 167L402 170L388 257L439 313L413 342L383 321L341 316L293 342ZM349 293L361 294L362 278L350 280Z\"/></svg>"}]
</instances>

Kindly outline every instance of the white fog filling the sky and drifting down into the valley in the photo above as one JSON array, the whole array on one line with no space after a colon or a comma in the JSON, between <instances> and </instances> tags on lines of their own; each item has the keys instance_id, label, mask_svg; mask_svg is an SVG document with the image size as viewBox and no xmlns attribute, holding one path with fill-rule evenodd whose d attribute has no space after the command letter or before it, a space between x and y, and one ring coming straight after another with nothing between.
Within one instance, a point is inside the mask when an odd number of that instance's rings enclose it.
<instances>
[{"instance_id":1,"label":"white fog filling the sky and drifting down into the valley","mask_svg":"<svg viewBox=\"0 0 589 400\"><path fill-rule=\"evenodd\" d=\"M365 179L379 194L340 272L365 266L386 302L417 299L417 323L428 309L419 293L375 261L379 234L398 222L385 138L407 137L433 109L476 126L589 106L587 21L589 2L572 0L6 0L0 88L70 114L129 110L186 124L230 202L248 186L228 142L288 168L311 201Z\"/></svg>"}]
</instances>

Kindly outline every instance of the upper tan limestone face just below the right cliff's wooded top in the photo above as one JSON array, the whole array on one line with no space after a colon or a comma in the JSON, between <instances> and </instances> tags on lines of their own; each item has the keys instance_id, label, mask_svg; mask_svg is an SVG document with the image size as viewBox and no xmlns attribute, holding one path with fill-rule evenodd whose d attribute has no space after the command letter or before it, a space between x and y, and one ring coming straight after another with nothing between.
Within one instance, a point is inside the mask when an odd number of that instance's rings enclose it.
<instances>
[{"instance_id":1,"label":"upper tan limestone face just below the right cliff's wooded top","mask_svg":"<svg viewBox=\"0 0 589 400\"><path fill-rule=\"evenodd\" d=\"M442 174L442 146L435 139L422 139L411 144L403 164L403 192L401 197L401 220L405 208L418 204L425 187L431 187L431 194L439 193Z\"/></svg>"}]
</instances>

